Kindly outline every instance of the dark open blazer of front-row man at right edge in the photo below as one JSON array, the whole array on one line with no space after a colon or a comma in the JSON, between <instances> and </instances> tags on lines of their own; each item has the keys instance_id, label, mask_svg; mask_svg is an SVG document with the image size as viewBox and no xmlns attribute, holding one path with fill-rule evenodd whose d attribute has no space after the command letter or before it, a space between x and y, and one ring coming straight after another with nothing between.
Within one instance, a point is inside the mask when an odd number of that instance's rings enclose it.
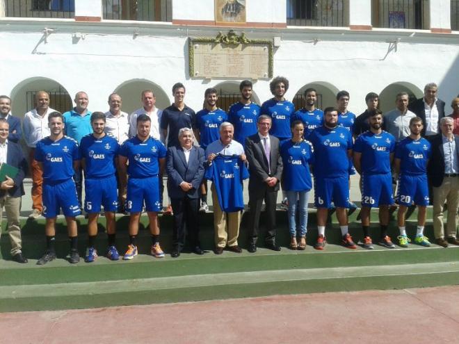
<instances>
[{"instance_id":1,"label":"dark open blazer of front-row man at right edge","mask_svg":"<svg viewBox=\"0 0 459 344\"><path fill-rule=\"evenodd\" d=\"M456 159L459 161L459 136L454 136L456 142ZM444 177L444 151L442 134L436 135L430 140L432 154L427 165L427 175L430 185L438 188L443 183Z\"/></svg>"}]
</instances>

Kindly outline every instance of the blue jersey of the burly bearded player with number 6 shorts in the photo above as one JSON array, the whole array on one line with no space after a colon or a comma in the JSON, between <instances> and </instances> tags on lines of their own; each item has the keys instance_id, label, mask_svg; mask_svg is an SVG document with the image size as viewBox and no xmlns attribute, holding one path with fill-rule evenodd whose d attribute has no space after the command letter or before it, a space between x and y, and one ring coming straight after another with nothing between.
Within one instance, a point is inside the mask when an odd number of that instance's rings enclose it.
<instances>
[{"instance_id":1,"label":"blue jersey of the burly bearded player with number 6 shorts","mask_svg":"<svg viewBox=\"0 0 459 344\"><path fill-rule=\"evenodd\" d=\"M309 136L314 147L314 176L323 178L348 175L348 150L352 149L351 131L341 126L320 126Z\"/></svg>"}]
</instances>

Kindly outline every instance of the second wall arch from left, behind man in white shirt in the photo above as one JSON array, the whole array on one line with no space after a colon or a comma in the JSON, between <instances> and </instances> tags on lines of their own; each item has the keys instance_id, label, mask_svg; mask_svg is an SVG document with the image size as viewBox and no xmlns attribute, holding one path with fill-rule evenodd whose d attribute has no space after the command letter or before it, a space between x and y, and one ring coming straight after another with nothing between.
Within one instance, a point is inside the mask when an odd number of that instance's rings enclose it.
<instances>
[{"instance_id":1,"label":"second wall arch from left, behind man in white shirt","mask_svg":"<svg viewBox=\"0 0 459 344\"><path fill-rule=\"evenodd\" d=\"M118 93L122 98L122 110L132 113L142 106L140 95L143 90L153 90L156 96L156 107L167 108L171 101L161 86L147 79L131 79L118 85L113 92Z\"/></svg>"}]
</instances>

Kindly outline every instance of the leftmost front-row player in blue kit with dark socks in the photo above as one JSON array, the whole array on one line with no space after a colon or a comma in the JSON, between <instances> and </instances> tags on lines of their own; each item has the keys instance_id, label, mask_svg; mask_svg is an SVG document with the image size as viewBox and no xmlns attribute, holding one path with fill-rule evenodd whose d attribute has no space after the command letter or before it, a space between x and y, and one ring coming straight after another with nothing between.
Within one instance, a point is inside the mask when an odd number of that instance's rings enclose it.
<instances>
[{"instance_id":1,"label":"leftmost front-row player in blue kit with dark socks","mask_svg":"<svg viewBox=\"0 0 459 344\"><path fill-rule=\"evenodd\" d=\"M64 118L57 111L48 116L50 135L37 142L35 160L43 171L43 215L46 218L45 234L47 251L38 259L44 265L56 259L56 218L63 211L70 239L70 263L78 263L78 230L75 216L80 215L77 189L72 179L79 168L78 143L64 136Z\"/></svg>"}]
</instances>

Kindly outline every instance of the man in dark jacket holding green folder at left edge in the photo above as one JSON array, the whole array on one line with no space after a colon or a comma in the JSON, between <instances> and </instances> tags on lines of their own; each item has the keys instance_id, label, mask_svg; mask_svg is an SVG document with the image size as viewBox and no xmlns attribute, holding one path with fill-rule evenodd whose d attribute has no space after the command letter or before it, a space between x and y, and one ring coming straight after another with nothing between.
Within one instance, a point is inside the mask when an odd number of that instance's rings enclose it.
<instances>
[{"instance_id":1,"label":"man in dark jacket holding green folder at left edge","mask_svg":"<svg viewBox=\"0 0 459 344\"><path fill-rule=\"evenodd\" d=\"M21 196L24 195L22 181L27 172L27 161L19 144L8 140L9 124L0 118L0 163L7 163L17 167L19 172L14 178L8 177L0 183L0 223L2 220L3 206L8 220L8 235L11 241L11 256L13 261L27 263L22 255L21 228L19 227L19 211ZM1 230L0 230L1 234Z\"/></svg>"}]
</instances>

